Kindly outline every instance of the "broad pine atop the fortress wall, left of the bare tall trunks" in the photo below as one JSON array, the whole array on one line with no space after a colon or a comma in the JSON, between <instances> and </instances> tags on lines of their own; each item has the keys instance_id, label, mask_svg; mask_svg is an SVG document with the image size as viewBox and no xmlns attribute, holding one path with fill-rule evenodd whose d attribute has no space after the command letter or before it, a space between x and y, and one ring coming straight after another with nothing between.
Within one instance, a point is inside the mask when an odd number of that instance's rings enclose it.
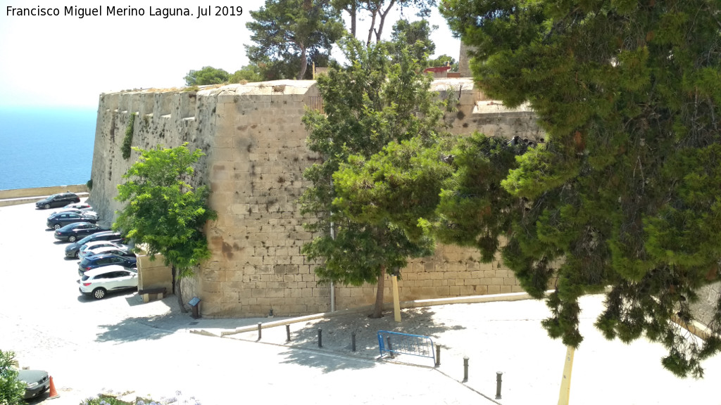
<instances>
[{"instance_id":1,"label":"broad pine atop the fortress wall, left of the bare tall trunks","mask_svg":"<svg viewBox=\"0 0 721 405\"><path fill-rule=\"evenodd\" d=\"M328 0L266 0L246 27L257 45L246 45L252 63L265 79L304 79L311 56L329 55L345 31Z\"/></svg>"}]
</instances>

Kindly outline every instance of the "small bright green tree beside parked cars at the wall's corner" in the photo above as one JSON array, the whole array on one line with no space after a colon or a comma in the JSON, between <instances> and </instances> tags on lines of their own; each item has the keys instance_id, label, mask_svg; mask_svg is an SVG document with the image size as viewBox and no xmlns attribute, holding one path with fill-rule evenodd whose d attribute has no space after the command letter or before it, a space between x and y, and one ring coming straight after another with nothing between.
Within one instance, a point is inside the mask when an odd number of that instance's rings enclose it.
<instances>
[{"instance_id":1,"label":"small bright green tree beside parked cars at the wall's corner","mask_svg":"<svg viewBox=\"0 0 721 405\"><path fill-rule=\"evenodd\" d=\"M193 267L210 257L205 223L217 218L208 208L208 187L194 188L193 164L203 152L192 153L187 143L176 148L157 146L141 153L118 185L116 200L127 203L112 228L132 239L155 257L162 254L171 266L174 292L185 312L180 280L193 275Z\"/></svg>"}]
</instances>

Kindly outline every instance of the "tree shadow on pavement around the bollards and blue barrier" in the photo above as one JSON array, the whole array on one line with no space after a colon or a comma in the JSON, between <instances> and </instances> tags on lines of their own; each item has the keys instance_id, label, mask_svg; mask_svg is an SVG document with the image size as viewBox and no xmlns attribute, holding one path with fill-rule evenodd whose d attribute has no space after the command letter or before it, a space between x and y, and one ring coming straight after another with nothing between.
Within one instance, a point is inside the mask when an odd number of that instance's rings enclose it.
<instances>
[{"instance_id":1,"label":"tree shadow on pavement around the bollards and blue barrier","mask_svg":"<svg viewBox=\"0 0 721 405\"><path fill-rule=\"evenodd\" d=\"M463 326L437 321L433 315L433 309L429 307L407 308L402 311L401 322L394 320L392 311L386 311L384 317L379 319L368 318L367 313L361 312L308 321L304 324L291 324L291 342L286 345L303 350L288 350L285 353L286 360L283 362L322 368L324 373L348 368L370 368L380 357L378 331L415 334L433 340L440 338L445 331L465 329ZM322 347L318 345L319 329ZM355 334L355 351L353 351L353 334ZM418 359L427 361L419 363ZM394 361L433 365L432 359L410 355L401 355Z\"/></svg>"}]
</instances>

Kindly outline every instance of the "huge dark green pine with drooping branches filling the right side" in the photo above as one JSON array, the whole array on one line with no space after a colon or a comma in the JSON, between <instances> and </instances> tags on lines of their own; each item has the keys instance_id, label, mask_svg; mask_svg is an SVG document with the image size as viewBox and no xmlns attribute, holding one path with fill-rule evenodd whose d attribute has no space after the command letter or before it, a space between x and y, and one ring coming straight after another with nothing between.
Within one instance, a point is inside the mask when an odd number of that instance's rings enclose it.
<instances>
[{"instance_id":1,"label":"huge dark green pine with drooping branches filling the right side","mask_svg":"<svg viewBox=\"0 0 721 405\"><path fill-rule=\"evenodd\" d=\"M441 12L474 46L484 91L528 102L547 131L488 192L523 203L489 236L505 236L524 288L542 298L557 276L549 335L578 347L578 298L610 286L596 321L607 338L645 335L668 349L665 368L702 376L721 349L721 298L705 342L669 320L693 320L697 291L721 275L721 3L443 0Z\"/></svg>"}]
</instances>

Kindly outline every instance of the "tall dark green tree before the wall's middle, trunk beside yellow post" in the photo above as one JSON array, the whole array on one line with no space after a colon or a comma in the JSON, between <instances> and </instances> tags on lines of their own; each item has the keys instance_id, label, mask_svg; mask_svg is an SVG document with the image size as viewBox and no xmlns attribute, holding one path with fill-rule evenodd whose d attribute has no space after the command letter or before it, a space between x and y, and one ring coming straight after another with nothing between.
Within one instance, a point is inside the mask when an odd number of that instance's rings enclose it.
<instances>
[{"instance_id":1,"label":"tall dark green tree before the wall's middle, trunk beside yellow post","mask_svg":"<svg viewBox=\"0 0 721 405\"><path fill-rule=\"evenodd\" d=\"M341 45L350 66L331 69L318 79L325 114L309 111L304 116L310 131L307 144L323 159L304 172L313 184L301 197L301 210L312 215L314 221L306 228L317 236L301 252L322 259L316 270L321 281L377 282L372 316L379 317L385 275L404 267L408 257L430 254L433 240L411 241L384 218L354 221L350 215L357 206L342 200L334 204L332 178L352 154L363 159L391 141L418 134L430 142L442 129L443 113L429 90L430 78L415 73L417 61L407 50L400 53L399 63L392 63L384 43L366 47L346 38Z\"/></svg>"}]
</instances>

